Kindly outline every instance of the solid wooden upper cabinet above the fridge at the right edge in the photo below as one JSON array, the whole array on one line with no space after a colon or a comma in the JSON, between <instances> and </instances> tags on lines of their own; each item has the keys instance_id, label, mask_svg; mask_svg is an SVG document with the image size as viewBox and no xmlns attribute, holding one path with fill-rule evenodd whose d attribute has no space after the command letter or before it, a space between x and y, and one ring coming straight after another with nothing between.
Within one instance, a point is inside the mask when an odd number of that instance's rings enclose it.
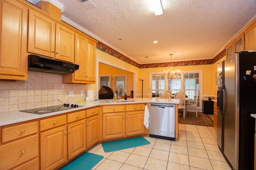
<instances>
[{"instance_id":1,"label":"solid wooden upper cabinet above the fridge at the right edge","mask_svg":"<svg viewBox=\"0 0 256 170\"><path fill-rule=\"evenodd\" d=\"M256 50L256 19L244 31L245 50Z\"/></svg>"}]
</instances>

